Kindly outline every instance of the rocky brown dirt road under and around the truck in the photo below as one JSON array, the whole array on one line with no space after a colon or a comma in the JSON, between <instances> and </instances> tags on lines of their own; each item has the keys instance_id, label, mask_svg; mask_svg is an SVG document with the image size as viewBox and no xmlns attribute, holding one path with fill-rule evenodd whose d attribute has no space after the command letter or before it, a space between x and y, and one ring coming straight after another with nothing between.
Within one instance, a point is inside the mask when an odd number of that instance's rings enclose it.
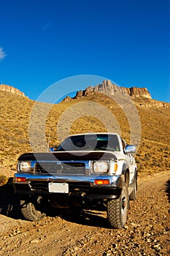
<instances>
[{"instance_id":1,"label":"rocky brown dirt road under and around the truck","mask_svg":"<svg viewBox=\"0 0 170 256\"><path fill-rule=\"evenodd\" d=\"M139 180L122 230L110 229L102 211L64 211L40 222L25 221L13 191L7 195L1 187L0 255L170 255L169 176Z\"/></svg>"}]
</instances>

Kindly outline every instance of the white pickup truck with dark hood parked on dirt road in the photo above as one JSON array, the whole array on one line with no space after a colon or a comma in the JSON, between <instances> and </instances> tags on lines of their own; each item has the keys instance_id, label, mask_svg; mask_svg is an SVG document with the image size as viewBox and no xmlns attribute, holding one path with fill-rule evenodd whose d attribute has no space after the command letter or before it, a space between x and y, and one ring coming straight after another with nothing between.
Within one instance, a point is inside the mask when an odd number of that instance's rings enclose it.
<instances>
[{"instance_id":1,"label":"white pickup truck with dark hood parked on dirt road","mask_svg":"<svg viewBox=\"0 0 170 256\"><path fill-rule=\"evenodd\" d=\"M54 151L22 154L13 184L23 217L42 219L46 203L74 209L98 204L112 228L124 227L129 200L136 198L135 151L115 133L85 133Z\"/></svg>"}]
</instances>

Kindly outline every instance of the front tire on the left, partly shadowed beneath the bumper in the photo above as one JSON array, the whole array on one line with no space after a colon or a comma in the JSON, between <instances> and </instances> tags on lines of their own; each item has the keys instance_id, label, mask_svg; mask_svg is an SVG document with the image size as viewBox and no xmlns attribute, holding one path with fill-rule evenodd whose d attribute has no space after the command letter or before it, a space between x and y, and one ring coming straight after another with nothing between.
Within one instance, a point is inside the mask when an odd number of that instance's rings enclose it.
<instances>
[{"instance_id":1,"label":"front tire on the left, partly shadowed beneath the bumper","mask_svg":"<svg viewBox=\"0 0 170 256\"><path fill-rule=\"evenodd\" d=\"M26 200L20 200L20 210L23 217L32 222L38 221L45 217L46 214L37 211L34 204Z\"/></svg>"}]
</instances>

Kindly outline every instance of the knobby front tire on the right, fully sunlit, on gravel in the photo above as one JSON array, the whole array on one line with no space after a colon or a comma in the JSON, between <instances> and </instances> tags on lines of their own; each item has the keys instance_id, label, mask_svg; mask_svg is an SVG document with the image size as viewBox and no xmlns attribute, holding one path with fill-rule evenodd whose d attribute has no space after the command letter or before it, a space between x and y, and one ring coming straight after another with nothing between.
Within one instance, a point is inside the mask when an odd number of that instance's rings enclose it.
<instances>
[{"instance_id":1,"label":"knobby front tire on the right, fully sunlit, on gravel","mask_svg":"<svg viewBox=\"0 0 170 256\"><path fill-rule=\"evenodd\" d=\"M125 226L128 205L128 188L124 185L120 197L107 202L107 219L111 227L122 228Z\"/></svg>"}]
</instances>

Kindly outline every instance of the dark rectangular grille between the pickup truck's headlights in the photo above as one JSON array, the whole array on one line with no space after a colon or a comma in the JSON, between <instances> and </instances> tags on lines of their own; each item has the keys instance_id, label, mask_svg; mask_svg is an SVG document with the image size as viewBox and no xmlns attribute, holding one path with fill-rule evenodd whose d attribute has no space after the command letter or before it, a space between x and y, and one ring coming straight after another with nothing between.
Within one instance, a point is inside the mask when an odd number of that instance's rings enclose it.
<instances>
[{"instance_id":1,"label":"dark rectangular grille between the pickup truck's headlights","mask_svg":"<svg viewBox=\"0 0 170 256\"><path fill-rule=\"evenodd\" d=\"M36 162L34 165L34 173L85 175L85 162Z\"/></svg>"}]
</instances>

